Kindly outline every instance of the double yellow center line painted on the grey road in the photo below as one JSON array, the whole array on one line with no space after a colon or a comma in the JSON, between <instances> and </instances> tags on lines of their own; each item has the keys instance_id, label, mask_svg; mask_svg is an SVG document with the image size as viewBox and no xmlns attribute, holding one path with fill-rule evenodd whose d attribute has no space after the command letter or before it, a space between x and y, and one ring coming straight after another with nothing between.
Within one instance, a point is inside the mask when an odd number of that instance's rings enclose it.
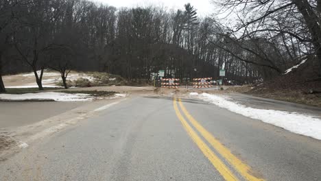
<instances>
[{"instance_id":1,"label":"double yellow center line painted on the grey road","mask_svg":"<svg viewBox=\"0 0 321 181\"><path fill-rule=\"evenodd\" d=\"M196 145L198 145L200 150L203 152L204 156L206 156L206 158L208 158L210 160L210 162L215 167L215 169L217 169L217 171L219 171L219 173L223 176L223 178L225 180L228 180L228 181L229 180L238 180L237 177L234 175L234 173L232 171L230 171L230 169L224 164L224 162L222 162L222 160L220 160L217 157L217 155L211 150L211 148L208 145L206 145L206 143L204 143L204 141L202 141L202 138L200 138L200 136L198 136L197 132L195 132L195 130L193 130L191 125L189 125L189 123L185 120L185 118L180 113L180 110L178 109L176 99L173 100L173 104L174 104L174 110L176 112L176 115L177 115L178 119L180 120L180 122L182 123L182 125L184 126L185 130L187 131L189 136L191 136L192 140L196 143ZM189 114L189 112L187 111L185 106L182 104L182 101L180 99L178 99L178 104L180 105L182 112L185 114L185 116L190 121L190 123L193 125L193 127L196 130L198 130L198 132L200 132L200 134L206 139L206 141L208 141L212 145L212 147L223 158L225 158L228 161L228 163L230 165L232 165L234 167L234 169L241 176L243 176L243 178L245 178L246 180L253 180L253 181L259 181L259 180L262 181L263 180L261 178L257 178L255 176L252 176L252 174L250 174L250 167L248 165L244 164L243 162L241 162L241 160L239 160L239 158L234 156L227 147L225 147L210 132L208 132L204 127L202 127L202 125L200 125L200 123L198 123L198 121L196 121L191 116L191 114Z\"/></svg>"}]
</instances>

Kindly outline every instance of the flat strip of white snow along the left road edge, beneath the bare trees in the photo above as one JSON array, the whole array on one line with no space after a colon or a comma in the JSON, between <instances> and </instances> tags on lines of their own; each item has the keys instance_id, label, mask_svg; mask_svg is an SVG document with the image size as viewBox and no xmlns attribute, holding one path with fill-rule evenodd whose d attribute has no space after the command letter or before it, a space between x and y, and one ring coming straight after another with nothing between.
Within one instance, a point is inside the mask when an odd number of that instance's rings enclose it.
<instances>
[{"instance_id":1,"label":"flat strip of white snow along the left road edge, beneath the bare trees","mask_svg":"<svg viewBox=\"0 0 321 181\"><path fill-rule=\"evenodd\" d=\"M22 95L0 94L0 99L5 100L47 100L53 99L54 101L92 101L94 97L88 94L69 94L69 93L27 93Z\"/></svg>"}]
</instances>

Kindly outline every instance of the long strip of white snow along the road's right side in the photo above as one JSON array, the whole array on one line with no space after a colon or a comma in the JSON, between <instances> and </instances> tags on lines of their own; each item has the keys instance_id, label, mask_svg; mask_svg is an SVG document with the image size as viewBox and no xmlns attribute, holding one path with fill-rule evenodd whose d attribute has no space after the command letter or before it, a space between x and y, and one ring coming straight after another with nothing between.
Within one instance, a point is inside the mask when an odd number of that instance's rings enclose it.
<instances>
[{"instance_id":1,"label":"long strip of white snow along the road's right side","mask_svg":"<svg viewBox=\"0 0 321 181\"><path fill-rule=\"evenodd\" d=\"M196 94L190 93L190 95ZM229 101L227 97L210 95L208 93L202 93L201 95L198 95L198 98L203 99L204 101L209 101L216 106L226 108L245 117L259 119L265 123L270 123L284 128L285 130L289 130L290 132L311 136L312 138L321 140L321 119L312 117L311 115L281 110L250 108L233 101Z\"/></svg>"}]
</instances>

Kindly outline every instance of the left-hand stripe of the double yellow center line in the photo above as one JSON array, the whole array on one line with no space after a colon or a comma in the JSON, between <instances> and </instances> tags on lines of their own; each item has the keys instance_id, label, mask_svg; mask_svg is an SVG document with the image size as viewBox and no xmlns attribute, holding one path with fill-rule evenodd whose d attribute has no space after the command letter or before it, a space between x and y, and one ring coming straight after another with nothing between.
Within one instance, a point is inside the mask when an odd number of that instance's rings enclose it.
<instances>
[{"instance_id":1,"label":"left-hand stripe of the double yellow center line","mask_svg":"<svg viewBox=\"0 0 321 181\"><path fill-rule=\"evenodd\" d=\"M234 176L232 171L230 171L230 169L226 167L226 165L224 164L224 162L222 162L222 160L219 160L219 158L212 152L209 146L207 146L206 143L202 141L200 136L198 136L198 134L193 130L193 128L191 128L191 125L187 123L185 118L180 113L180 110L178 109L175 98L173 99L173 104L174 104L174 110L176 112L176 116L178 117L178 119L184 126L185 130L194 141L194 143L196 143L196 145L198 145L200 150L203 152L204 156L206 156L206 158L210 160L212 165L215 167L215 169L217 169L217 171L219 171L219 173L223 176L225 180L227 181L237 180L237 178Z\"/></svg>"}]
</instances>

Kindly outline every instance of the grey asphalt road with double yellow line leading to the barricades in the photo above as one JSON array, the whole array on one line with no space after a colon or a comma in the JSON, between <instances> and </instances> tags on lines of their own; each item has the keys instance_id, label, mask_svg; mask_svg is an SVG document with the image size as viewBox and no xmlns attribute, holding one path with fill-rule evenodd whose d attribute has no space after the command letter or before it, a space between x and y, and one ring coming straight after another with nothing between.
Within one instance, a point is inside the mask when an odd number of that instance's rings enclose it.
<instances>
[{"instance_id":1,"label":"grey asphalt road with double yellow line leading to the barricades","mask_svg":"<svg viewBox=\"0 0 321 181\"><path fill-rule=\"evenodd\" d=\"M0 180L321 180L321 142L195 99L133 97L0 161Z\"/></svg>"}]
</instances>

